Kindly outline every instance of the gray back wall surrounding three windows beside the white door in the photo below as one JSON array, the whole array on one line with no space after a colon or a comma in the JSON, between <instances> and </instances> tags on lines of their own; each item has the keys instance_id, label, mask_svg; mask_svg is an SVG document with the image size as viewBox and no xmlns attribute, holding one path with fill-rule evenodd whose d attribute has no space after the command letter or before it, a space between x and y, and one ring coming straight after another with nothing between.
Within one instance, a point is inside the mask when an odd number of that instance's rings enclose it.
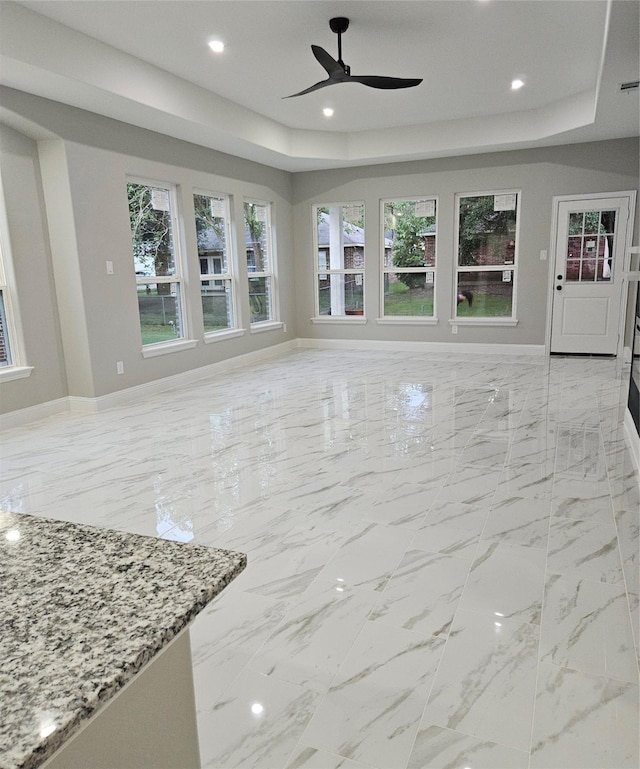
<instances>
[{"instance_id":1,"label":"gray back wall surrounding three windows beside the white door","mask_svg":"<svg viewBox=\"0 0 640 769\"><path fill-rule=\"evenodd\" d=\"M299 337L353 340L427 341L543 345L545 343L554 195L600 193L638 188L638 140L576 144L425 160L414 163L314 171L294 176L294 232L297 259ZM515 328L458 327L451 333L455 264L455 194L501 189L522 191L519 274ZM438 196L436 315L437 326L384 326L379 316L380 200ZM363 201L366 219L366 325L311 322L314 307L314 260L311 253L314 204ZM637 227L637 221L636 221Z\"/></svg>"}]
</instances>

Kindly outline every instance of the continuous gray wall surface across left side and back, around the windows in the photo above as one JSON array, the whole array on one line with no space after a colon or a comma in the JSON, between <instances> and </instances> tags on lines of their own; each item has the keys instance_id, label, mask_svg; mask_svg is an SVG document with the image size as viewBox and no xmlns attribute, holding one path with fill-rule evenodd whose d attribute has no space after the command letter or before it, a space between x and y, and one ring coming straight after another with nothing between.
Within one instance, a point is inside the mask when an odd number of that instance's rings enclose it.
<instances>
[{"instance_id":1,"label":"continuous gray wall surface across left side and back, around the windows","mask_svg":"<svg viewBox=\"0 0 640 769\"><path fill-rule=\"evenodd\" d=\"M66 395L97 397L152 382L296 337L542 345L545 341L554 195L638 186L638 140L493 153L415 163L289 174L160 133L62 104L0 89L3 106L47 134L39 142L3 128L2 179L31 377L0 388L2 412ZM59 138L47 138L47 137ZM243 242L244 197L274 203L282 329L212 344L193 316L195 348L154 358L141 351L131 255L126 177L178 186L185 217L186 289L199 304L193 189L232 196L235 235ZM453 290L454 195L522 190L518 326L459 327L447 322ZM384 326L379 303L380 200L412 195L439 199L436 326ZM315 203L364 201L367 267L365 325L317 325L314 313L312 213ZM637 229L638 221L636 221ZM637 242L637 234L636 240ZM114 264L107 275L106 261ZM238 296L243 326L249 307L240 249ZM116 373L123 361L125 373Z\"/></svg>"}]
</instances>

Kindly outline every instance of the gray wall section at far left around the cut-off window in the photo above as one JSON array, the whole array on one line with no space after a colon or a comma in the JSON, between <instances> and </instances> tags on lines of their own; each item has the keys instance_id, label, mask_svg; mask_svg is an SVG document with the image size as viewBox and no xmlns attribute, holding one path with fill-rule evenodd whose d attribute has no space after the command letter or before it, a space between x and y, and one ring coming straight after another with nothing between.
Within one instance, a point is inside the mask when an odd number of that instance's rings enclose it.
<instances>
[{"instance_id":1,"label":"gray wall section at far left around the cut-off window","mask_svg":"<svg viewBox=\"0 0 640 769\"><path fill-rule=\"evenodd\" d=\"M51 251L35 142L0 125L0 168L9 232L5 233L17 285L31 376L5 382L2 411L67 395Z\"/></svg>"}]
</instances>

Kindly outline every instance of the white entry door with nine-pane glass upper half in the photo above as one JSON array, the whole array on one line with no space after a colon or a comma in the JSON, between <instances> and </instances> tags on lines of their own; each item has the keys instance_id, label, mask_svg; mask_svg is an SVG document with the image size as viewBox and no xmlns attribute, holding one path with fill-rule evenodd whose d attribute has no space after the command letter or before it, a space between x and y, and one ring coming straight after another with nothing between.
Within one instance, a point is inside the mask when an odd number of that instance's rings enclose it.
<instances>
[{"instance_id":1,"label":"white entry door with nine-pane glass upper half","mask_svg":"<svg viewBox=\"0 0 640 769\"><path fill-rule=\"evenodd\" d=\"M558 201L551 352L617 353L631 197Z\"/></svg>"}]
</instances>

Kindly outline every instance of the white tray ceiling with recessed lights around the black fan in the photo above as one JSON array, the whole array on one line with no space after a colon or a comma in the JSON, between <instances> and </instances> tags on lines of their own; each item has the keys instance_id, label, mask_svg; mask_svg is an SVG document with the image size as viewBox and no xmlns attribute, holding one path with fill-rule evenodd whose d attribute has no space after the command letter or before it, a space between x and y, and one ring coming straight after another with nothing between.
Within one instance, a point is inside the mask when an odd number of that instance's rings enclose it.
<instances>
[{"instance_id":1,"label":"white tray ceiling with recessed lights around the black fan","mask_svg":"<svg viewBox=\"0 0 640 769\"><path fill-rule=\"evenodd\" d=\"M635 0L24 0L0 4L0 82L287 170L638 135ZM332 16L353 74L326 77ZM211 37L226 49L213 54ZM520 77L525 86L510 89ZM333 107L324 118L322 108ZM3 115L7 118L6 113Z\"/></svg>"}]
</instances>

